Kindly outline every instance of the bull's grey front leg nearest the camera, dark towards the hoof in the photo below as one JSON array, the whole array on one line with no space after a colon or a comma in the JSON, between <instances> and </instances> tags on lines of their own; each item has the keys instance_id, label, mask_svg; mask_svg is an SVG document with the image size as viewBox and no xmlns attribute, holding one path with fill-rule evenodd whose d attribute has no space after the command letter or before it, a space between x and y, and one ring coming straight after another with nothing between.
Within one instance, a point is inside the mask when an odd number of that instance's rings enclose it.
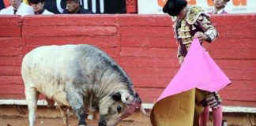
<instances>
[{"instance_id":1,"label":"bull's grey front leg nearest the camera, dark towards the hoof","mask_svg":"<svg viewBox=\"0 0 256 126\"><path fill-rule=\"evenodd\" d=\"M78 91L67 91L66 100L70 102L70 106L72 107L74 113L76 113L79 123L79 126L86 126L85 122L85 106L83 102L83 95Z\"/></svg>"}]
</instances>

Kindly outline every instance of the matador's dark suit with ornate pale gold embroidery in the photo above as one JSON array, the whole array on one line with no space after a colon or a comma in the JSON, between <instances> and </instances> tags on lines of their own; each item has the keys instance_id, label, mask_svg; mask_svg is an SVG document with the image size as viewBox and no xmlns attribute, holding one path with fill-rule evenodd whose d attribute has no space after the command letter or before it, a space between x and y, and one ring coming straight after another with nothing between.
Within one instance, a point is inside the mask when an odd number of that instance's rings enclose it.
<instances>
[{"instance_id":1,"label":"matador's dark suit with ornate pale gold embroidery","mask_svg":"<svg viewBox=\"0 0 256 126\"><path fill-rule=\"evenodd\" d=\"M218 32L209 21L209 15L203 12L199 6L190 6L186 17L182 20L176 20L174 24L175 37L179 43L178 57L186 57L187 51L190 49L190 44L193 36L197 31L201 31L208 36L207 42L212 43L217 37ZM200 92L202 101L198 101L202 106L217 107L220 106L220 95L217 92ZM199 100L199 99L198 99Z\"/></svg>"}]
</instances>

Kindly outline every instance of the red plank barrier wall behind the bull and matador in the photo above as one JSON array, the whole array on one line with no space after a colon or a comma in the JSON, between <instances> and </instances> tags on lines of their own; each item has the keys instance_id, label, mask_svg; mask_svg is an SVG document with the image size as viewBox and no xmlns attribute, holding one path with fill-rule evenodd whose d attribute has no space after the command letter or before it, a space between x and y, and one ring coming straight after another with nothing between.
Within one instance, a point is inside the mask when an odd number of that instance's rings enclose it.
<instances>
[{"instance_id":1,"label":"red plank barrier wall behind the bull and matador","mask_svg":"<svg viewBox=\"0 0 256 126\"><path fill-rule=\"evenodd\" d=\"M220 36L205 43L230 77L225 106L256 106L255 15L213 16ZM111 55L144 102L155 102L179 69L167 15L54 15L0 17L0 98L24 98L21 60L36 46L88 43Z\"/></svg>"}]
</instances>

